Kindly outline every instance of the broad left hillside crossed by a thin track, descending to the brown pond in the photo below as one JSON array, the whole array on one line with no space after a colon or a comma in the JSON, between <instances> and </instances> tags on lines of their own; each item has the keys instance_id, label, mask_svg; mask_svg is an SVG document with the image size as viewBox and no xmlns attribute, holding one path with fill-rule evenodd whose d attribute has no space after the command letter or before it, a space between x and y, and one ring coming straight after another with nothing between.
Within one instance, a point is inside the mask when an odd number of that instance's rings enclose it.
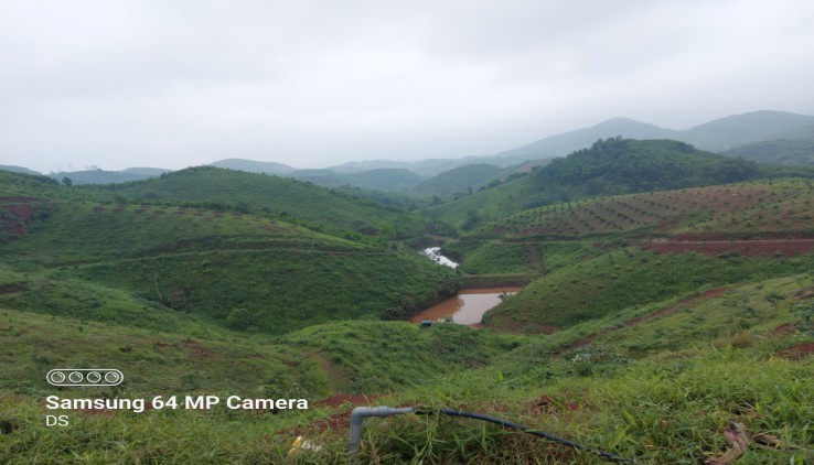
<instances>
[{"instance_id":1,"label":"broad left hillside crossed by a thin track, descending to the brown pond","mask_svg":"<svg viewBox=\"0 0 814 465\"><path fill-rule=\"evenodd\" d=\"M74 192L57 194L66 191ZM4 263L29 273L19 292L0 295L15 309L146 325L172 309L283 333L324 321L401 317L459 285L453 271L389 244L368 246L261 216L44 197L6 207L15 229L0 246ZM115 311L119 302L127 311Z\"/></svg>"}]
</instances>

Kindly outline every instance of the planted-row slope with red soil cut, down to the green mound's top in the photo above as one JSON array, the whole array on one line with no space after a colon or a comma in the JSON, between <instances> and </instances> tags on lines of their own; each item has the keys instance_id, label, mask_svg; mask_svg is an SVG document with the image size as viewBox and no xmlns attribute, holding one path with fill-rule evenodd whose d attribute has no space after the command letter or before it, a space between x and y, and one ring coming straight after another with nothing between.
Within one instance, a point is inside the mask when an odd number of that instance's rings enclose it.
<instances>
[{"instance_id":1,"label":"planted-row slope with red soil cut, down to the green mound's top","mask_svg":"<svg viewBox=\"0 0 814 465\"><path fill-rule=\"evenodd\" d=\"M508 215L447 244L443 252L482 279L539 277L628 245L794 255L812 249L812 201L811 182L794 179L600 197Z\"/></svg>"}]
</instances>

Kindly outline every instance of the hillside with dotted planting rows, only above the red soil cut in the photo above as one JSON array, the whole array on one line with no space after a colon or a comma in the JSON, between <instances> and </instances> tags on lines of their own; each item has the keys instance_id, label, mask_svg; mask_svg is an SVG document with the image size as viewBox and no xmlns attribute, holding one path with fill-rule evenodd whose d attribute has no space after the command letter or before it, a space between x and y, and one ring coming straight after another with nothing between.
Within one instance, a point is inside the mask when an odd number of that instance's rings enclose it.
<instances>
[{"instance_id":1,"label":"hillside with dotted planting rows, only above the red soil cut","mask_svg":"<svg viewBox=\"0 0 814 465\"><path fill-rule=\"evenodd\" d=\"M508 240L580 238L759 238L811 236L814 184L752 182L629 194L533 208L479 228L472 236Z\"/></svg>"}]
</instances>

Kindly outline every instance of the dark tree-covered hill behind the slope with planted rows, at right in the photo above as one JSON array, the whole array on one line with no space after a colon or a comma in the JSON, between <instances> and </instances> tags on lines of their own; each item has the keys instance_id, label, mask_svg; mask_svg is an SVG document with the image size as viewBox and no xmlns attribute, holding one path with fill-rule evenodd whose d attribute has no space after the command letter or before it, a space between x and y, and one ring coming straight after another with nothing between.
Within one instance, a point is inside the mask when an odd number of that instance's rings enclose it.
<instances>
[{"instance_id":1,"label":"dark tree-covered hill behind the slope with planted rows, at right","mask_svg":"<svg viewBox=\"0 0 814 465\"><path fill-rule=\"evenodd\" d=\"M463 229L525 209L634 192L716 185L814 171L760 165L703 152L684 142L608 139L459 201L420 209Z\"/></svg>"}]
</instances>

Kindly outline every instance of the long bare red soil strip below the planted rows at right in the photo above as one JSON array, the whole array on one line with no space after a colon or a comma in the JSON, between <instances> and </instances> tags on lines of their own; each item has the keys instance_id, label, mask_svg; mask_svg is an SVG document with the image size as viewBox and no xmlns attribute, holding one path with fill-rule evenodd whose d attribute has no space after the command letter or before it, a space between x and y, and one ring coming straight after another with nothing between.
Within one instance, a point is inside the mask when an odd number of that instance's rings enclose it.
<instances>
[{"instance_id":1,"label":"long bare red soil strip below the planted rows at right","mask_svg":"<svg viewBox=\"0 0 814 465\"><path fill-rule=\"evenodd\" d=\"M780 252L784 257L811 253L814 250L814 239L765 239L765 240L665 240L643 242L645 250L655 250L662 253L697 252L707 256L718 256L726 252L737 252L745 257L771 257Z\"/></svg>"}]
</instances>

